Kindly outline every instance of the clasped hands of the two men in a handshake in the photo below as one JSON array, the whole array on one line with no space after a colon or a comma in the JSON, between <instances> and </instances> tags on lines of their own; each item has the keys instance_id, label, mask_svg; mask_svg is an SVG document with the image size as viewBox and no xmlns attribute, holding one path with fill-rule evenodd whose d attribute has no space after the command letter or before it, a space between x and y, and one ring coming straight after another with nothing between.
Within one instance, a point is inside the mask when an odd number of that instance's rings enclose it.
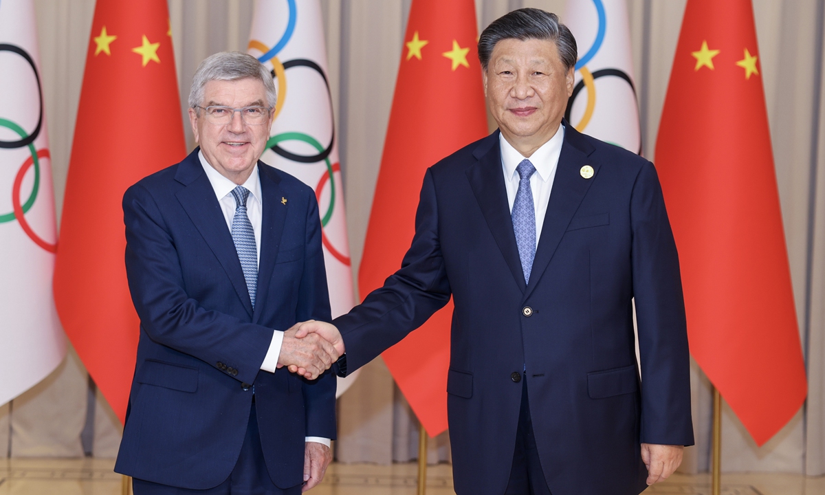
<instances>
[{"instance_id":1,"label":"clasped hands of the two men in a handshake","mask_svg":"<svg viewBox=\"0 0 825 495\"><path fill-rule=\"evenodd\" d=\"M299 325L300 323L284 332L278 367L288 366L293 373L299 372L307 380L314 380L338 360L341 352L319 333L307 335L307 332L303 332L300 337L296 337Z\"/></svg>"}]
</instances>

